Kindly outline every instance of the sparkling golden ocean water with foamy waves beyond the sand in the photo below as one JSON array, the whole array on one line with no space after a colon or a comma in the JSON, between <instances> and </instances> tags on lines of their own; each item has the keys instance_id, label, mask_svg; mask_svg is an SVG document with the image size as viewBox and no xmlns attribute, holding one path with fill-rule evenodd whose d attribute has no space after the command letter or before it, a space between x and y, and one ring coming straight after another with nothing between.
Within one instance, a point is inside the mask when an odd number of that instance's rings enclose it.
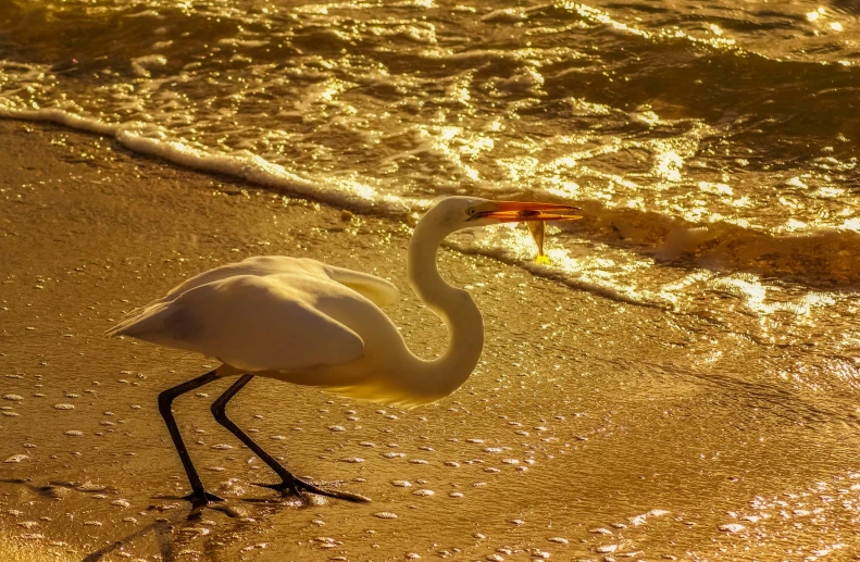
<instances>
[{"instance_id":1,"label":"sparkling golden ocean water with foamy waves beyond the sand","mask_svg":"<svg viewBox=\"0 0 860 562\"><path fill-rule=\"evenodd\" d=\"M0 3L3 116L410 224L581 205L550 266L524 227L451 243L758 346L850 423L859 64L849 0Z\"/></svg>"}]
</instances>

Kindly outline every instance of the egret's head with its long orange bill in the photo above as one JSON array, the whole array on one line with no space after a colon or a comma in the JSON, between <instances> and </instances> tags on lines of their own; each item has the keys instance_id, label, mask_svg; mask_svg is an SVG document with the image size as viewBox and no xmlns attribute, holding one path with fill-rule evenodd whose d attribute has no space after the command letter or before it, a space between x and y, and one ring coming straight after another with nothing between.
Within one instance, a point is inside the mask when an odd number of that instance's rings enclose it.
<instances>
[{"instance_id":1,"label":"egret's head with its long orange bill","mask_svg":"<svg viewBox=\"0 0 860 562\"><path fill-rule=\"evenodd\" d=\"M479 197L449 197L443 199L427 212L450 232L472 226L488 226L499 223L523 221L571 221L579 218L575 214L578 207L556 203L533 203L526 201L491 201Z\"/></svg>"}]
</instances>

